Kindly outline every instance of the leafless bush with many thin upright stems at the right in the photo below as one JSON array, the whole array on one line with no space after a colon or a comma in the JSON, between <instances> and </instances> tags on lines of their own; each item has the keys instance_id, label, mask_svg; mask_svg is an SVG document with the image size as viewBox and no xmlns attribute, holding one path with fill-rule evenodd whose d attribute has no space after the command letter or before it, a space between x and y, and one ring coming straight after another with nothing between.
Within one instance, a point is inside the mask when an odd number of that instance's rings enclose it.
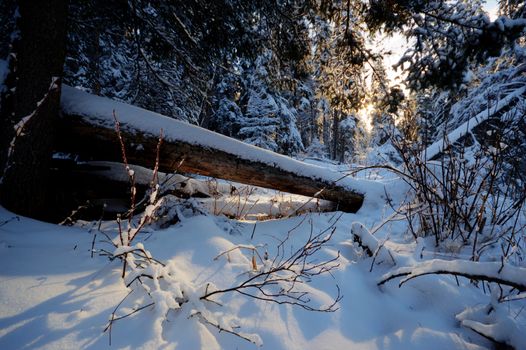
<instances>
[{"instance_id":1,"label":"leafless bush with many thin upright stems at the right","mask_svg":"<svg viewBox=\"0 0 526 350\"><path fill-rule=\"evenodd\" d=\"M471 148L444 139L447 147L432 161L413 145L395 143L404 162L403 178L413 192L405 213L414 237L434 236L437 246L471 245L475 261L494 245L507 257L523 259L526 197L517 195L516 183L502 181L506 134L492 137L491 145Z\"/></svg>"}]
</instances>

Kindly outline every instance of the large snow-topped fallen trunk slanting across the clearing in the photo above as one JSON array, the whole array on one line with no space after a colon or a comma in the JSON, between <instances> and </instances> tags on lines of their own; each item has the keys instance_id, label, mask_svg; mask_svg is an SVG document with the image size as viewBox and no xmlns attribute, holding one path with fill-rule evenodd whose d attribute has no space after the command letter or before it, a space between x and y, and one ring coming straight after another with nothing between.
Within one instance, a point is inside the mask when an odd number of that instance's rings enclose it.
<instances>
[{"instance_id":1,"label":"large snow-topped fallen trunk slanting across the clearing","mask_svg":"<svg viewBox=\"0 0 526 350\"><path fill-rule=\"evenodd\" d=\"M153 167L161 129L159 170L211 176L336 202L356 212L364 194L360 182L209 130L141 108L64 86L63 119L57 149L97 160L121 161L115 113L128 161ZM343 178L342 178L343 177Z\"/></svg>"}]
</instances>

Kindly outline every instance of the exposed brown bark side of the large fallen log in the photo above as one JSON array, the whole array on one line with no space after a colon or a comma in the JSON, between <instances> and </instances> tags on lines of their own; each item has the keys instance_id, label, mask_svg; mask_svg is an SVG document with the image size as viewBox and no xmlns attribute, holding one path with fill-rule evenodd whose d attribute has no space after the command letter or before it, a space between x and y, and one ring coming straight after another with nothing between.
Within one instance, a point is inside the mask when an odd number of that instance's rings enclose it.
<instances>
[{"instance_id":1,"label":"exposed brown bark side of the large fallen log","mask_svg":"<svg viewBox=\"0 0 526 350\"><path fill-rule=\"evenodd\" d=\"M98 97L95 97L95 99L108 101ZM108 112L105 112L104 116L100 114L96 116L89 115L90 112L85 110L82 113L75 113L75 108L67 105L75 102L72 99L62 103L64 118L62 118L62 125L59 131L60 137L58 137L60 143L57 144L57 148L65 152L74 152L90 159L121 161L119 140ZM117 102L114 103L121 107L123 105ZM136 110L139 109L134 108L133 111ZM170 128L177 131L182 124L155 113L141 111L148 113L145 116L147 118L164 118L162 125L168 131ZM111 112L109 113L111 115ZM144 123L144 120L142 122ZM185 124L184 128L188 130L188 128L198 127ZM224 137L203 130L199 130L199 132L203 132L205 136ZM123 123L121 133L126 143L128 161L132 164L152 168L155 163L159 135L145 132L140 125L135 123ZM225 139L229 138L225 137ZM232 142L232 140L229 139L228 142ZM251 148L251 151L254 151L254 148ZM268 156L268 151L261 150L261 152ZM295 162L292 159L290 161ZM201 174L272 188L283 192L317 197L336 202L339 210L347 212L356 212L364 200L363 194L334 181L304 176L301 173L284 170L263 161L243 159L236 155L235 152L205 147L178 139L174 140L173 137L172 139L167 137L163 141L160 151L159 170Z\"/></svg>"}]
</instances>

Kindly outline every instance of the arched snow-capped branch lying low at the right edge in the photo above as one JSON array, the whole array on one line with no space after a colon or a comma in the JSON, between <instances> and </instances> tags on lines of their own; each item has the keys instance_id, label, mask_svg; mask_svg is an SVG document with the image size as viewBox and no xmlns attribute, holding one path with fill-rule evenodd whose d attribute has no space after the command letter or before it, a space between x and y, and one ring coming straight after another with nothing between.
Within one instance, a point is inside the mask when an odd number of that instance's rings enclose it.
<instances>
[{"instance_id":1,"label":"arched snow-capped branch lying low at the right edge","mask_svg":"<svg viewBox=\"0 0 526 350\"><path fill-rule=\"evenodd\" d=\"M407 281L424 275L454 275L474 280L500 283L519 292L526 291L526 268L503 265L500 262L479 262L467 260L433 259L415 266L402 267L391 271L380 278L378 285L382 285L397 277L405 277L399 286Z\"/></svg>"}]
</instances>

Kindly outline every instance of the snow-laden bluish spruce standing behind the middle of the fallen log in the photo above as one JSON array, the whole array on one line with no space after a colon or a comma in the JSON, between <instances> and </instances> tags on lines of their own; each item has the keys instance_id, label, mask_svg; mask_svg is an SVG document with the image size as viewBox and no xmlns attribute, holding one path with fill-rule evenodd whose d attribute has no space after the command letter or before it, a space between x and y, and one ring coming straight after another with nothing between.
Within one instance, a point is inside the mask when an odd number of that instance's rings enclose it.
<instances>
[{"instance_id":1,"label":"snow-laden bluish spruce standing behind the middle of the fallen log","mask_svg":"<svg viewBox=\"0 0 526 350\"><path fill-rule=\"evenodd\" d=\"M217 111L208 127L246 143L283 154L303 151L298 112L293 101L272 89L269 61L260 56L254 65L240 69L219 84Z\"/></svg>"}]
</instances>

